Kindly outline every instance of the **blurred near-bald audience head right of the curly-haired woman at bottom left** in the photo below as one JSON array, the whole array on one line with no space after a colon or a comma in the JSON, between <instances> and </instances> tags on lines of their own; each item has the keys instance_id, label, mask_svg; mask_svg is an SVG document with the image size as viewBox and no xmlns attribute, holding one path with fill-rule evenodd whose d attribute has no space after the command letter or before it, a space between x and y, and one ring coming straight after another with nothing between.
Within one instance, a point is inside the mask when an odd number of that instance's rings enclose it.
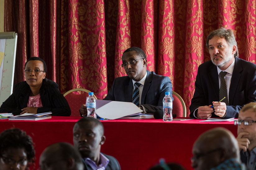
<instances>
[{"instance_id":1,"label":"blurred near-bald audience head right of the curly-haired woman at bottom left","mask_svg":"<svg viewBox=\"0 0 256 170\"><path fill-rule=\"evenodd\" d=\"M40 170L83 170L79 152L69 143L60 142L47 147L39 159Z\"/></svg>"}]
</instances>

